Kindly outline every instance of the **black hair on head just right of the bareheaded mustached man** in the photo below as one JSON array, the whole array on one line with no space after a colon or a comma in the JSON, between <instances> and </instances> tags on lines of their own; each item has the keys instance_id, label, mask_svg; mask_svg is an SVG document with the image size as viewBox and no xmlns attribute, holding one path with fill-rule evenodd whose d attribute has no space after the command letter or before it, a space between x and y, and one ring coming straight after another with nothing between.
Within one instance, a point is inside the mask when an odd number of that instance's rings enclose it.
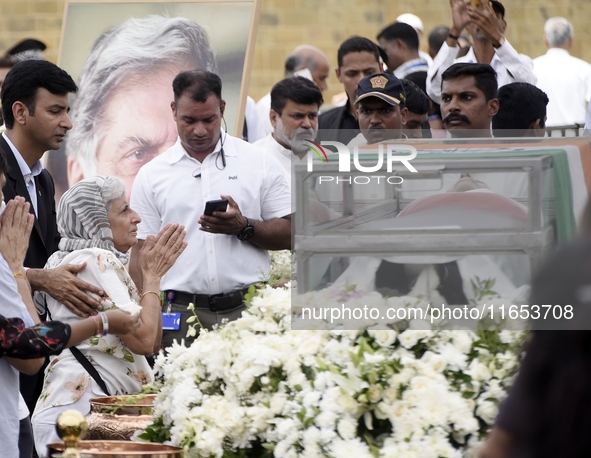
<instances>
[{"instance_id":1,"label":"black hair on head just right of the bareheaded mustached man","mask_svg":"<svg viewBox=\"0 0 591 458\"><path fill-rule=\"evenodd\" d=\"M499 88L499 111L492 119L495 137L522 137L532 123L545 127L546 93L533 84L511 83Z\"/></svg>"}]
</instances>

